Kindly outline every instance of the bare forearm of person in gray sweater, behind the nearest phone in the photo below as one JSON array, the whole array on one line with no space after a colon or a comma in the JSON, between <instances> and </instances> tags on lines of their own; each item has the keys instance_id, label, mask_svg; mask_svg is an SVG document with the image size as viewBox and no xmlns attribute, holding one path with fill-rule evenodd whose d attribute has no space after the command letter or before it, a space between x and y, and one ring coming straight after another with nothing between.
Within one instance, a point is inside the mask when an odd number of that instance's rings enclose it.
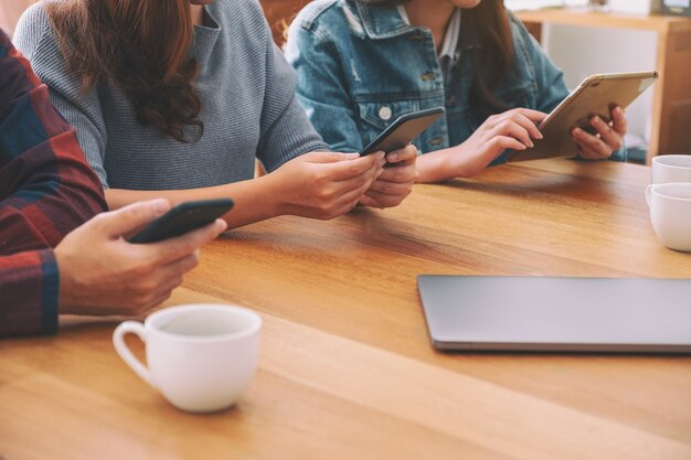
<instances>
[{"instance_id":1,"label":"bare forearm of person in gray sweater, behind the nearest phone","mask_svg":"<svg viewBox=\"0 0 691 460\"><path fill-rule=\"evenodd\" d=\"M227 222L228 228L233 228L283 214L280 193L275 182L272 174L267 174L247 181L202 189L161 191L108 189L106 201L111 210L117 210L138 201L160 197L167 199L173 206L187 201L230 197L233 199L235 205L223 218Z\"/></svg>"}]
</instances>

